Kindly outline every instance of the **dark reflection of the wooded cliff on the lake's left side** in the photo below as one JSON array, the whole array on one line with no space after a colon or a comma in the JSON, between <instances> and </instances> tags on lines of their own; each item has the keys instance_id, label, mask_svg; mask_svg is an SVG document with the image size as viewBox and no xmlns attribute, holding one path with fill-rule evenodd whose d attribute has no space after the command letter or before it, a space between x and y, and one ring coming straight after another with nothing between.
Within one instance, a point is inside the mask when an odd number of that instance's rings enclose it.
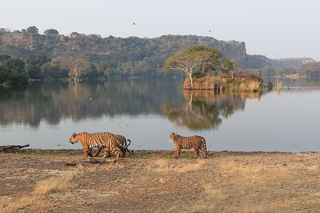
<instances>
[{"instance_id":1,"label":"dark reflection of the wooded cliff on the lake's left side","mask_svg":"<svg viewBox=\"0 0 320 213\"><path fill-rule=\"evenodd\" d=\"M179 95L177 95L179 94ZM94 99L89 100L89 95ZM34 82L28 86L0 86L0 124L164 114L164 103L181 106L185 99L177 79L108 79Z\"/></svg>"}]
</instances>

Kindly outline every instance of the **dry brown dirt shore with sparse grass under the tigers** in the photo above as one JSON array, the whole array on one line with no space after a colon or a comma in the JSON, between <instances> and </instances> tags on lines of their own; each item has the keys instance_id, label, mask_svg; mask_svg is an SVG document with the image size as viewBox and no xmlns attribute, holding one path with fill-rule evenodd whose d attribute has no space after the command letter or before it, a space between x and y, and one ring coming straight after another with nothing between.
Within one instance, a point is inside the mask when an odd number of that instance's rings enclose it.
<instances>
[{"instance_id":1,"label":"dry brown dirt shore with sparse grass under the tigers","mask_svg":"<svg viewBox=\"0 0 320 213\"><path fill-rule=\"evenodd\" d=\"M94 164L80 149L2 152L0 213L320 212L320 153L212 154L136 150ZM39 189L66 174L62 188Z\"/></svg>"}]
</instances>

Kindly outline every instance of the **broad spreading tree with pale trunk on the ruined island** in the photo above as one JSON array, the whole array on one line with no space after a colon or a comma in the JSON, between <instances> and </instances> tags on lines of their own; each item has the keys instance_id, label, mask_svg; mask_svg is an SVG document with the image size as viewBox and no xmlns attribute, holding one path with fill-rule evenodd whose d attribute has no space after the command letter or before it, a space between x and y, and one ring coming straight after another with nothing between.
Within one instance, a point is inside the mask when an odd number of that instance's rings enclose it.
<instances>
[{"instance_id":1,"label":"broad spreading tree with pale trunk on the ruined island","mask_svg":"<svg viewBox=\"0 0 320 213\"><path fill-rule=\"evenodd\" d=\"M204 75L218 75L218 73L229 73L233 70L233 62L223 59L222 53L215 47L190 46L187 49L174 52L165 60L164 74L175 70L182 70L191 80L193 87L193 72L201 72Z\"/></svg>"}]
</instances>

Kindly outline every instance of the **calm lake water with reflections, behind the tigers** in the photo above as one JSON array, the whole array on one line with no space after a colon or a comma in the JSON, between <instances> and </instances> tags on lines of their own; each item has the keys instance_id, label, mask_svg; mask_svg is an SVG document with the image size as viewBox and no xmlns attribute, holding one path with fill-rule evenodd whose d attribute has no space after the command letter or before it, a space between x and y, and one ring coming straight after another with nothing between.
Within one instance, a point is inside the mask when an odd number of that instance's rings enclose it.
<instances>
[{"instance_id":1,"label":"calm lake water with reflections, behind the tigers","mask_svg":"<svg viewBox=\"0 0 320 213\"><path fill-rule=\"evenodd\" d=\"M180 78L0 86L0 146L80 149L72 133L107 131L130 139L130 149L170 150L171 131L201 135L211 151L320 151L319 78L263 79L286 90L189 92Z\"/></svg>"}]
</instances>

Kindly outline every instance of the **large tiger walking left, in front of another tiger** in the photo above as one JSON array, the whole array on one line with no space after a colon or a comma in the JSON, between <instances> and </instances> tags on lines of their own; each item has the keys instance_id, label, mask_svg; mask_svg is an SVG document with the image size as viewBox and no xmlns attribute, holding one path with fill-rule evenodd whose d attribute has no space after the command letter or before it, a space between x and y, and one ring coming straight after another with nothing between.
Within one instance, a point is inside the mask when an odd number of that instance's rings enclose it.
<instances>
[{"instance_id":1,"label":"large tiger walking left, in front of another tiger","mask_svg":"<svg viewBox=\"0 0 320 213\"><path fill-rule=\"evenodd\" d=\"M84 158L83 160L90 156L92 157L92 154L90 153L90 149L93 147L96 148L104 148L108 147L111 149L113 153L116 154L117 158L120 158L123 156L123 149L125 151L125 148L122 147L120 151L117 150L116 143L119 143L119 140L116 138L116 136L109 132L97 132L97 133L73 133L69 139L70 144L75 144L76 142L80 142L82 144L83 150L84 150ZM98 153L99 154L99 153ZM93 155L93 157L96 157L97 155Z\"/></svg>"}]
</instances>

